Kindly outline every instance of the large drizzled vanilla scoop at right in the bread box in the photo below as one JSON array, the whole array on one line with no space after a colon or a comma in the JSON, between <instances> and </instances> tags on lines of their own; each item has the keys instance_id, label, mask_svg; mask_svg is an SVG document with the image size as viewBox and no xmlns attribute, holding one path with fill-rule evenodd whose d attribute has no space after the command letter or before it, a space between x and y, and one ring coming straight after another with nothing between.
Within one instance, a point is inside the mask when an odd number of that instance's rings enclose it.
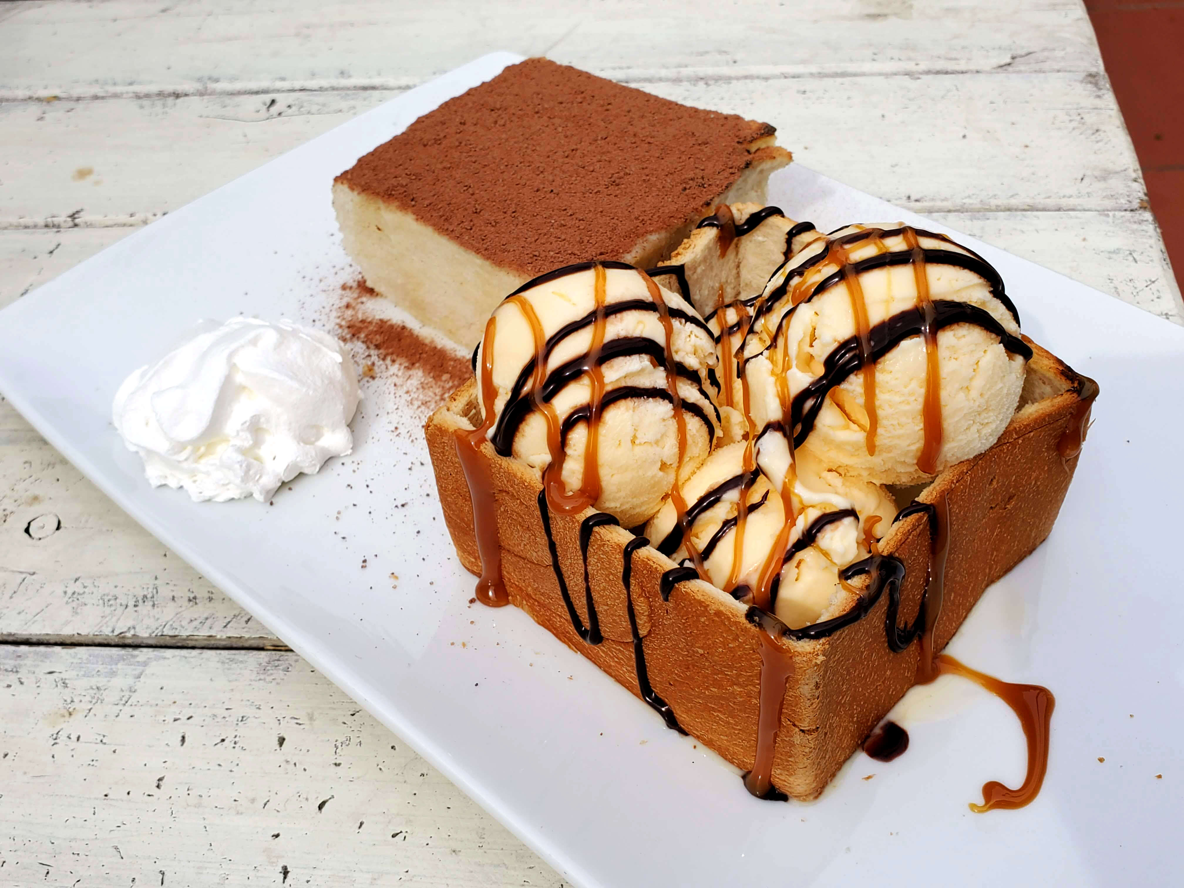
<instances>
[{"instance_id":1,"label":"large drizzled vanilla scoop at right in the bread box","mask_svg":"<svg viewBox=\"0 0 1184 888\"><path fill-rule=\"evenodd\" d=\"M800 232L792 249L739 349L762 442L792 430L800 452L882 484L996 442L1031 349L990 264L901 224Z\"/></svg>"}]
</instances>

